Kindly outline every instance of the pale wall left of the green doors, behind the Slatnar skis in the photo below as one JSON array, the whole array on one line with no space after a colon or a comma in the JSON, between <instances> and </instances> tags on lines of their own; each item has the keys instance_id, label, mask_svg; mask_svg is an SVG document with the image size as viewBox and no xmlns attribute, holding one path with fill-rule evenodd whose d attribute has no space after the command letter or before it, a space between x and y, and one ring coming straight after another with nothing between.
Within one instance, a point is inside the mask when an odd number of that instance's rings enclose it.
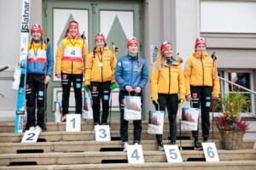
<instances>
[{"instance_id":1,"label":"pale wall left of the green doors, behind the Slatnar skis","mask_svg":"<svg viewBox=\"0 0 256 170\"><path fill-rule=\"evenodd\" d=\"M11 89L15 66L19 61L21 0L0 1L0 68L9 69L0 72L0 121L15 121L16 91ZM42 0L32 0L31 25L42 24Z\"/></svg>"}]
</instances>

